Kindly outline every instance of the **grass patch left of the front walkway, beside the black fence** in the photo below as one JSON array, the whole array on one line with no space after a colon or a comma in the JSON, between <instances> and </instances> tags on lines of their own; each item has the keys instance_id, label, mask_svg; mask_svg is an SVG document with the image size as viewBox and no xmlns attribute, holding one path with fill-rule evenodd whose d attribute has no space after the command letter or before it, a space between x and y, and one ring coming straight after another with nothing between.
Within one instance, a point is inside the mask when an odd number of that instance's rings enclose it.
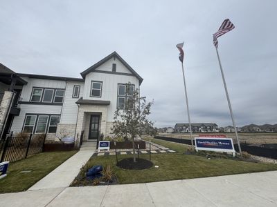
<instances>
[{"instance_id":1,"label":"grass patch left of the front walkway, beside the black fence","mask_svg":"<svg viewBox=\"0 0 277 207\"><path fill-rule=\"evenodd\" d=\"M11 163L8 167L8 175L0 179L0 193L27 190L66 159L69 159L75 152L42 152ZM32 171L22 173L22 170Z\"/></svg>"}]
</instances>

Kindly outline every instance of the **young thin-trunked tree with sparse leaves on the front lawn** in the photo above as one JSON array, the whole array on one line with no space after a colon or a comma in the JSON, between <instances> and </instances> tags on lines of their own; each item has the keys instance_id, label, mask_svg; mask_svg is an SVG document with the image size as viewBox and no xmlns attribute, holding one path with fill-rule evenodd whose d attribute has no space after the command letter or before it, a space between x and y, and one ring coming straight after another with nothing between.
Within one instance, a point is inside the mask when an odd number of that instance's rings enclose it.
<instances>
[{"instance_id":1,"label":"young thin-trunked tree with sparse leaves on the front lawn","mask_svg":"<svg viewBox=\"0 0 277 207\"><path fill-rule=\"evenodd\" d=\"M127 97L125 104L123 103L114 112L111 132L116 137L132 139L134 162L136 162L134 139L142 134L144 126L153 126L152 121L147 119L153 101L147 103L146 97L139 96L138 89L131 91L132 87L129 87L129 84L126 86L127 94L131 94L132 97Z\"/></svg>"}]
</instances>

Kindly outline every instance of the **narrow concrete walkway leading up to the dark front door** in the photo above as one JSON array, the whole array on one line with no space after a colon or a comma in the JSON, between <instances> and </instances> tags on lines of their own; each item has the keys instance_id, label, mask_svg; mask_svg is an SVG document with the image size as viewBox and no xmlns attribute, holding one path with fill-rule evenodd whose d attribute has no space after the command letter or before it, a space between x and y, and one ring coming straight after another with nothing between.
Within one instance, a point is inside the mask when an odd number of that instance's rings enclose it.
<instances>
[{"instance_id":1,"label":"narrow concrete walkway leading up to the dark front door","mask_svg":"<svg viewBox=\"0 0 277 207\"><path fill-rule=\"evenodd\" d=\"M63 164L55 168L28 190L68 187L95 150L96 142L85 142L79 152L64 161Z\"/></svg>"}]
</instances>

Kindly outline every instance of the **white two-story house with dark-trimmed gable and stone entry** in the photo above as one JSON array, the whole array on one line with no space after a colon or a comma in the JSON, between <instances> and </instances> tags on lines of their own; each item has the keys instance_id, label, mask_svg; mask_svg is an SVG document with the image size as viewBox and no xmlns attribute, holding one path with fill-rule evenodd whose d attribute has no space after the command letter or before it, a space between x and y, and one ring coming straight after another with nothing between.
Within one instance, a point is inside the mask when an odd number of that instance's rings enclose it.
<instances>
[{"instance_id":1,"label":"white two-story house with dark-trimmed gable and stone entry","mask_svg":"<svg viewBox=\"0 0 277 207\"><path fill-rule=\"evenodd\" d=\"M114 112L125 108L143 81L116 52L81 72L82 78L13 72L7 75L12 81L6 81L0 73L0 92L6 97L8 91L20 104L11 121L6 119L5 133L46 132L46 139L70 136L75 144L82 132L84 140L110 135Z\"/></svg>"}]
</instances>

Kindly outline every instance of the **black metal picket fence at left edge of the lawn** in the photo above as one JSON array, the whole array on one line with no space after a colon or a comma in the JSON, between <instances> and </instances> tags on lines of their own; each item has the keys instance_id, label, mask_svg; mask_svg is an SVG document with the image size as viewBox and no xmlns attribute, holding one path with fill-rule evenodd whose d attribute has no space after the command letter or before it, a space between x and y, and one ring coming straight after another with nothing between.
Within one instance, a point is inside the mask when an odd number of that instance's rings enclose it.
<instances>
[{"instance_id":1,"label":"black metal picket fence at left edge of the lawn","mask_svg":"<svg viewBox=\"0 0 277 207\"><path fill-rule=\"evenodd\" d=\"M17 161L43 151L45 134L8 135L0 141L0 161Z\"/></svg>"}]
</instances>

